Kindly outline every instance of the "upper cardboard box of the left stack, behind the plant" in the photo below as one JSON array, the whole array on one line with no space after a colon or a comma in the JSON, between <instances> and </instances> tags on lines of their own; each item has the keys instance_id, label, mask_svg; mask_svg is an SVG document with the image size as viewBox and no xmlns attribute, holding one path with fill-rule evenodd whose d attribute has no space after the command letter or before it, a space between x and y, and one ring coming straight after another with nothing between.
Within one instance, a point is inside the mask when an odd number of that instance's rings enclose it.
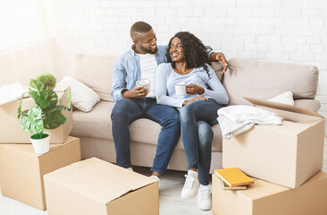
<instances>
[{"instance_id":1,"label":"upper cardboard box of the left stack, behind the plant","mask_svg":"<svg viewBox=\"0 0 327 215\"><path fill-rule=\"evenodd\" d=\"M58 95L58 105L67 105L67 90L70 87L59 86L55 88ZM20 107L21 100L15 100L13 102L0 106L0 144L8 143L30 143L29 133L25 133L21 129L21 119L18 116L18 107ZM21 103L21 110L29 109L34 106L35 102L31 98L23 99ZM50 133L50 143L63 143L71 133L72 122L72 110L63 110L63 116L66 117L64 125L55 129L45 130Z\"/></svg>"}]
</instances>

